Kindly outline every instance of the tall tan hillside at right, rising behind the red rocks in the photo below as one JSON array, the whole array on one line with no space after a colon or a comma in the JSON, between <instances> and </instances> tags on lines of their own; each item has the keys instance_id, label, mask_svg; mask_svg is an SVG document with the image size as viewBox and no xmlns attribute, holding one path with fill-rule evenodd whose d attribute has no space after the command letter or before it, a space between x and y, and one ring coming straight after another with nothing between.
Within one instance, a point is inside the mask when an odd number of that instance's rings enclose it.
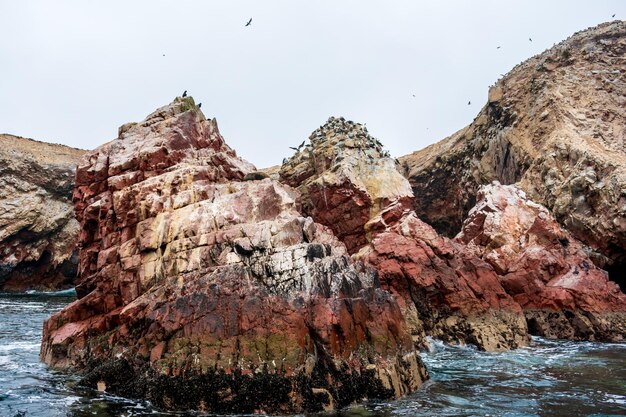
<instances>
[{"instance_id":1,"label":"tall tan hillside at right, rising behind the red rocks","mask_svg":"<svg viewBox=\"0 0 626 417\"><path fill-rule=\"evenodd\" d=\"M626 23L576 33L515 67L468 127L401 159L417 215L449 237L482 184L518 183L624 283Z\"/></svg>"}]
</instances>

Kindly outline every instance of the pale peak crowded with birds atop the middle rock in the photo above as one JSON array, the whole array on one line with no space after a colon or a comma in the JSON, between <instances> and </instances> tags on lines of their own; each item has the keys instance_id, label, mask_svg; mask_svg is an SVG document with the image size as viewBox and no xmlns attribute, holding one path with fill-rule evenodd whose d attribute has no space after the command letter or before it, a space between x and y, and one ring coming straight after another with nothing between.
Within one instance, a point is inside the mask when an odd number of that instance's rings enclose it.
<instances>
[{"instance_id":1,"label":"pale peak crowded with birds atop the middle rock","mask_svg":"<svg viewBox=\"0 0 626 417\"><path fill-rule=\"evenodd\" d=\"M411 187L364 125L331 117L309 138L310 145L302 143L284 161L280 180L302 193L305 214L330 227L355 252L367 243L370 219L410 207Z\"/></svg>"}]
</instances>

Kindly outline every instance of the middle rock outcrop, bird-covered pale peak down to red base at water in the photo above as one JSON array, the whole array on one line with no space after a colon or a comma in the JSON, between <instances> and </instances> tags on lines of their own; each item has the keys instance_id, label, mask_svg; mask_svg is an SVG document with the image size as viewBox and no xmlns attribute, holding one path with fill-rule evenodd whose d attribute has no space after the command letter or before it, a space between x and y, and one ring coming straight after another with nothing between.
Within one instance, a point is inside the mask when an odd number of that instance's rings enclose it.
<instances>
[{"instance_id":1,"label":"middle rock outcrop, bird-covered pale peak down to red base at water","mask_svg":"<svg viewBox=\"0 0 626 417\"><path fill-rule=\"evenodd\" d=\"M487 350L526 343L522 310L492 267L415 215L408 181L365 127L330 118L309 139L285 161L281 181L301 191L307 215L378 270L418 345L426 335Z\"/></svg>"}]
</instances>

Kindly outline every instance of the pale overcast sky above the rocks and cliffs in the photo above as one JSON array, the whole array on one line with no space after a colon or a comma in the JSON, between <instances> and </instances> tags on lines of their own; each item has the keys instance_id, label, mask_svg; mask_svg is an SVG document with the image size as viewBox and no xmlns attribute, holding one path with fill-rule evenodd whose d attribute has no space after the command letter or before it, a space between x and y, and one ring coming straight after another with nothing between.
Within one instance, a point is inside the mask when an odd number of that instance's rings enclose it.
<instances>
[{"instance_id":1,"label":"pale overcast sky above the rocks and cliffs","mask_svg":"<svg viewBox=\"0 0 626 417\"><path fill-rule=\"evenodd\" d=\"M401 156L612 14L626 1L0 0L0 132L93 149L188 90L258 167L331 115Z\"/></svg>"}]
</instances>

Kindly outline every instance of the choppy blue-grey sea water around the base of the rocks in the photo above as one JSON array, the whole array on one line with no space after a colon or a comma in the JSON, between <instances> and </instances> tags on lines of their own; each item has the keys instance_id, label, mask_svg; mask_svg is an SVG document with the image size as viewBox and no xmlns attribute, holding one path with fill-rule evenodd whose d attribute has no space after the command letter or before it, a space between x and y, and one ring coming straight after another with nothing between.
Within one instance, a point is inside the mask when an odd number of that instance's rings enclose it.
<instances>
[{"instance_id":1,"label":"choppy blue-grey sea water around the base of the rocks","mask_svg":"<svg viewBox=\"0 0 626 417\"><path fill-rule=\"evenodd\" d=\"M145 402L76 387L39 362L42 323L68 293L0 295L0 416L173 416ZM505 353L433 341L432 379L398 401L370 402L336 417L626 416L626 344L551 341Z\"/></svg>"}]
</instances>

